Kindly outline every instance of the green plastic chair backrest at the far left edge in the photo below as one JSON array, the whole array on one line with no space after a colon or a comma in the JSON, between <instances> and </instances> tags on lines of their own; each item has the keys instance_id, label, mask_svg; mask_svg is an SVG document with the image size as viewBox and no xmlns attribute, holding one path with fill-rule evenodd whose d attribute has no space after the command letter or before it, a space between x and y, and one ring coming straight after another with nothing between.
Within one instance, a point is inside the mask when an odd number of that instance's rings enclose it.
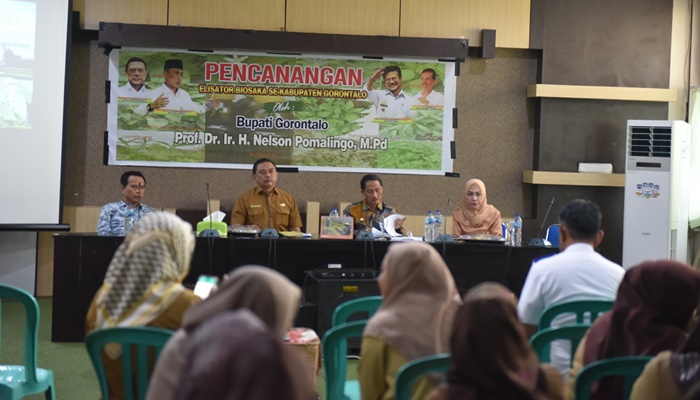
<instances>
[{"instance_id":1,"label":"green plastic chair backrest at the far left edge","mask_svg":"<svg viewBox=\"0 0 700 400\"><path fill-rule=\"evenodd\" d=\"M31 294L14 286L0 284L0 299L13 299L24 307L24 370L28 383L37 383L36 347L39 333L39 304Z\"/></svg>"}]
</instances>

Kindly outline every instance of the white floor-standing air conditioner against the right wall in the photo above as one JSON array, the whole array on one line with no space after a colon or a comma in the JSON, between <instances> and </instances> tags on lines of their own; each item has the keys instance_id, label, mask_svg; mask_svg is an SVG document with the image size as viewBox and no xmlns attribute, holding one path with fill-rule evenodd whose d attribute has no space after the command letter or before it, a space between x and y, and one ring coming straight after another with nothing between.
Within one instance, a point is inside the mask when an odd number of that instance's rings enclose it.
<instances>
[{"instance_id":1,"label":"white floor-standing air conditioner against the right wall","mask_svg":"<svg viewBox=\"0 0 700 400\"><path fill-rule=\"evenodd\" d=\"M688 257L690 125L627 121L622 266Z\"/></svg>"}]
</instances>

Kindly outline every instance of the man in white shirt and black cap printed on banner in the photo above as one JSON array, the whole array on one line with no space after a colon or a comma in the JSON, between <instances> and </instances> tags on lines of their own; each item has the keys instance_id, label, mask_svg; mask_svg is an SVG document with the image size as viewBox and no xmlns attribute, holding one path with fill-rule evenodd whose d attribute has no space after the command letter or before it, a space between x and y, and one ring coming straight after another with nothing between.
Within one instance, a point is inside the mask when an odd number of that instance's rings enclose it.
<instances>
[{"instance_id":1,"label":"man in white shirt and black cap printed on banner","mask_svg":"<svg viewBox=\"0 0 700 400\"><path fill-rule=\"evenodd\" d=\"M155 110L175 111L175 112L196 112L204 113L209 108L216 107L220 101L210 99L206 105L192 101L190 94L186 90L180 89L180 84L185 77L182 60L167 60L163 67L163 86L151 91L150 104L139 106L136 112L146 114Z\"/></svg>"}]
</instances>

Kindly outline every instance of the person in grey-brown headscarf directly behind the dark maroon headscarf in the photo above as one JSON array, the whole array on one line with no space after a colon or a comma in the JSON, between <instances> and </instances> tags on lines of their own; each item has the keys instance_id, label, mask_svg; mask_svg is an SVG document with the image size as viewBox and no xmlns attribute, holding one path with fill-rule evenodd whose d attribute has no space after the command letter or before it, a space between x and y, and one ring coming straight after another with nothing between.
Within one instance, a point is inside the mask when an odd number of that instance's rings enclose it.
<instances>
[{"instance_id":1,"label":"person in grey-brown headscarf directly behind the dark maroon headscarf","mask_svg":"<svg viewBox=\"0 0 700 400\"><path fill-rule=\"evenodd\" d=\"M175 332L158 358L146 399L174 398L186 365L183 349L191 342L194 330L207 319L225 311L247 308L281 338L291 328L300 300L301 289L282 274L259 266L236 268L214 293L185 314L182 328Z\"/></svg>"}]
</instances>

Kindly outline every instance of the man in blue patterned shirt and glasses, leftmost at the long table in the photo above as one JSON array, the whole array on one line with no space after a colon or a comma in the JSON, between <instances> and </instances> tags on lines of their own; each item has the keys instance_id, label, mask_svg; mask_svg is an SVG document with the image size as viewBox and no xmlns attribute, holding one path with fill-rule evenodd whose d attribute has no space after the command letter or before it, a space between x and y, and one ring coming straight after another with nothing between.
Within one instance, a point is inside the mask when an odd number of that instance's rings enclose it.
<instances>
[{"instance_id":1,"label":"man in blue patterned shirt and glasses, leftmost at the long table","mask_svg":"<svg viewBox=\"0 0 700 400\"><path fill-rule=\"evenodd\" d=\"M139 171L126 171L121 177L122 199L109 203L100 210L97 234L100 236L124 236L124 218L131 214L134 222L156 210L141 203L146 192L146 178Z\"/></svg>"}]
</instances>

